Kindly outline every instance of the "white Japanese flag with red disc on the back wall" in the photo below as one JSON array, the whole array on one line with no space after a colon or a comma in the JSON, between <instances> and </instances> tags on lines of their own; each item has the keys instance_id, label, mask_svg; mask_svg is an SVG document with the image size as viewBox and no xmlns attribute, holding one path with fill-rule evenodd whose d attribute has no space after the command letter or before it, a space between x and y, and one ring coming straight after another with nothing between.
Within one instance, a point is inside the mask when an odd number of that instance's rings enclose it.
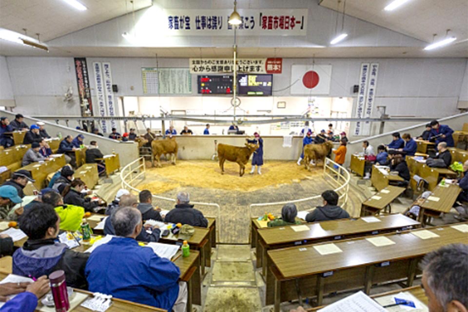
<instances>
[{"instance_id":1,"label":"white Japanese flag with red disc on the back wall","mask_svg":"<svg viewBox=\"0 0 468 312\"><path fill-rule=\"evenodd\" d=\"M329 94L331 65L292 65L291 94Z\"/></svg>"}]
</instances>

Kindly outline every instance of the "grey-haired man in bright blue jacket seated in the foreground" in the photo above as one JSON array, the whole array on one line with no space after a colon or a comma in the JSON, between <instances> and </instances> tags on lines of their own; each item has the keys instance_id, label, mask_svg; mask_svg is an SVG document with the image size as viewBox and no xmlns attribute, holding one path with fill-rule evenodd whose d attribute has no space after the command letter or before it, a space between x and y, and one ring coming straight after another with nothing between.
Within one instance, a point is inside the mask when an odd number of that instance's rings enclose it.
<instances>
[{"instance_id":1,"label":"grey-haired man in bright blue jacket seated in the foreground","mask_svg":"<svg viewBox=\"0 0 468 312\"><path fill-rule=\"evenodd\" d=\"M102 292L124 300L167 311L185 312L187 285L178 283L180 270L136 241L142 231L136 208L122 207L111 217L116 235L91 253L85 275L91 292Z\"/></svg>"}]
</instances>

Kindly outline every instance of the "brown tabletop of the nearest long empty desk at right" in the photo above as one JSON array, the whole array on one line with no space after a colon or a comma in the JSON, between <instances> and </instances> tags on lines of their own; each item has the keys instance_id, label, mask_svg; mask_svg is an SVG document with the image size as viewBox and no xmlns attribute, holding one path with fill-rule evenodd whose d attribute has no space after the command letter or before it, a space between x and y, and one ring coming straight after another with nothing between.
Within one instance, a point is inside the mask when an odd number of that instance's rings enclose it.
<instances>
[{"instance_id":1,"label":"brown tabletop of the nearest long empty desk at right","mask_svg":"<svg viewBox=\"0 0 468 312\"><path fill-rule=\"evenodd\" d=\"M438 230L442 229L442 230ZM290 247L268 251L273 265L279 270L284 279L325 273L340 269L365 266L405 258L423 256L442 246L453 243L467 243L467 234L444 227L427 229L440 237L421 239L410 232L403 234L385 235L395 242L393 245L376 247L365 238L335 242L343 252L321 255L313 246ZM425 230L414 230L425 231ZM373 236L377 237L377 236ZM298 265L300 263L300 265Z\"/></svg>"}]
</instances>

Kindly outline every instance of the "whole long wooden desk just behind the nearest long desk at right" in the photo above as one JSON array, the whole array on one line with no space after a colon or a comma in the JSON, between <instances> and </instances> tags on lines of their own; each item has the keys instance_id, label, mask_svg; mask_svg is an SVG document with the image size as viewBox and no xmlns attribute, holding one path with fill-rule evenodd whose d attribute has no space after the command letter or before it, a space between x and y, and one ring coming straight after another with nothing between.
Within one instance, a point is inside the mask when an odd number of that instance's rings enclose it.
<instances>
[{"instance_id":1,"label":"whole long wooden desk just behind the nearest long desk at right","mask_svg":"<svg viewBox=\"0 0 468 312\"><path fill-rule=\"evenodd\" d=\"M266 277L269 250L409 230L420 226L419 222L400 214L381 215L376 218L380 221L366 222L365 219L358 218L306 223L305 226L310 230L300 232L294 231L294 226L260 229L258 236L261 252L256 254L257 267L260 263L263 276Z\"/></svg>"}]
</instances>

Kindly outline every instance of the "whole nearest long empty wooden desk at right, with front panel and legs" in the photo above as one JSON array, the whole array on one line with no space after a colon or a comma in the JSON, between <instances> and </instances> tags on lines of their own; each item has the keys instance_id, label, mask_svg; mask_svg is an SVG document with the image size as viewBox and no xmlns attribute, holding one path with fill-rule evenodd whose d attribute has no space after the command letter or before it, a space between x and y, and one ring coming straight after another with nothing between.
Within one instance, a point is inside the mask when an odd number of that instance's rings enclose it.
<instances>
[{"instance_id":1,"label":"whole nearest long empty wooden desk at right, with front panel and legs","mask_svg":"<svg viewBox=\"0 0 468 312\"><path fill-rule=\"evenodd\" d=\"M394 244L381 247L366 238L338 241L334 245L342 252L327 255L314 248L324 243L271 250L267 253L272 265L268 270L266 304L274 304L274 311L279 312L281 302L299 295L316 296L320 306L326 293L359 288L369 293L374 284L398 279L406 279L407 286L412 286L417 264L425 254L448 244L467 243L467 233L451 226L429 229L438 235L429 239L412 234L426 230L384 235Z\"/></svg>"}]
</instances>

